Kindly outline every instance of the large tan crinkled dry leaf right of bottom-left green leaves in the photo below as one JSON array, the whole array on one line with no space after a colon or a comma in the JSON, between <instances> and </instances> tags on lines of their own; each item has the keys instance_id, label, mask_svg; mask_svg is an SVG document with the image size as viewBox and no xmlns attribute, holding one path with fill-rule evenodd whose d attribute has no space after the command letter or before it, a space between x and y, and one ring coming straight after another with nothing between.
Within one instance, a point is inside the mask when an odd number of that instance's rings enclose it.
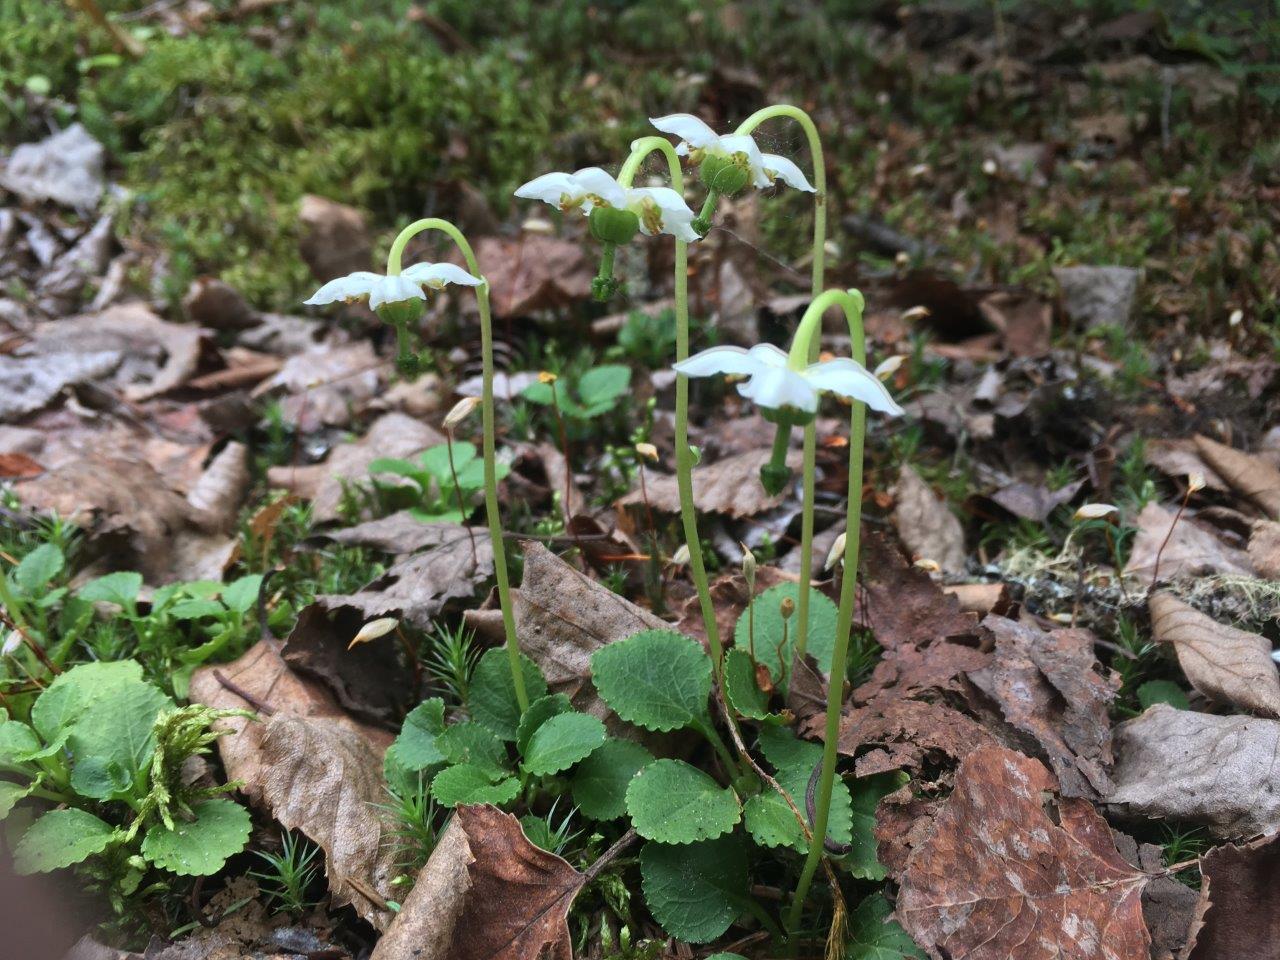
<instances>
[{"instance_id":1,"label":"large tan crinkled dry leaf right of bottom-left green leaves","mask_svg":"<svg viewBox=\"0 0 1280 960\"><path fill-rule=\"evenodd\" d=\"M324 687L291 671L274 640L259 641L234 663L201 667L189 695L209 707L259 712L256 721L220 721L232 731L218 741L227 778L320 845L335 902L383 929L390 911L362 891L393 896L396 850L376 806L387 800L383 753L390 735L355 722Z\"/></svg>"}]
</instances>

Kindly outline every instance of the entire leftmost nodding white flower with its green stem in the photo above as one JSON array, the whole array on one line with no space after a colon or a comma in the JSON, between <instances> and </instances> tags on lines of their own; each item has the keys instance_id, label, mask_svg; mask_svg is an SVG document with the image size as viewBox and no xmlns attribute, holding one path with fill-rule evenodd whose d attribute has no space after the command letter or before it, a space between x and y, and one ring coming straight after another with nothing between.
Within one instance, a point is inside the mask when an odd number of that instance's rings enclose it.
<instances>
[{"instance_id":1,"label":"entire leftmost nodding white flower with its green stem","mask_svg":"<svg viewBox=\"0 0 1280 960\"><path fill-rule=\"evenodd\" d=\"M451 264L417 264L402 269L402 259L408 242L425 230L438 230L448 237L462 253L466 270ZM421 269L420 269L421 268ZM507 552L502 534L502 518L498 512L498 457L494 425L493 399L493 316L489 310L489 283L480 273L475 251L462 232L448 220L426 218L415 220L392 242L387 253L387 274L352 274L339 280L330 280L310 302L333 302L339 298L362 298L369 296L370 305L379 310L388 323L396 326L399 340L397 364L402 372L417 371L417 356L411 351L408 325L422 315L422 302L426 298L424 287L439 288L447 283L461 283L476 293L476 307L480 314L480 364L481 364L481 428L484 431L484 500L489 524L489 539L493 544L494 579L498 581L498 603L502 608L502 627L506 636L507 662L516 703L521 712L529 708L529 695L525 691L524 675L520 669L520 646L516 640L516 620L511 605L511 581L507 575ZM367 289L367 293L365 292ZM328 293L326 293L328 291ZM343 293L346 291L346 294ZM374 305L374 296L378 305ZM392 300L390 297L394 297Z\"/></svg>"}]
</instances>

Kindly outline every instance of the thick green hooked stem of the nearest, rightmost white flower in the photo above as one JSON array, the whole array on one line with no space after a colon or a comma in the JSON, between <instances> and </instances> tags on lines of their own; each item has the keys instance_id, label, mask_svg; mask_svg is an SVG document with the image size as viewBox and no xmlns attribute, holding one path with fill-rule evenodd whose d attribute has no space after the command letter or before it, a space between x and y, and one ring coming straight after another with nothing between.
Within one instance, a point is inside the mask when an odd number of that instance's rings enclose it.
<instances>
[{"instance_id":1,"label":"thick green hooked stem of the nearest, rightmost white flower","mask_svg":"<svg viewBox=\"0 0 1280 960\"><path fill-rule=\"evenodd\" d=\"M800 347L801 334L817 340L822 314L827 307L838 303L845 308L849 323L850 353L859 364L867 362L867 339L863 334L863 294L858 291L827 291L805 311L796 330L796 343ZM827 684L827 723L822 746L822 773L818 778L818 792L814 804L813 840L809 855L796 884L795 900L787 915L787 929L794 931L804 910L804 899L809 892L818 860L822 859L823 840L827 836L827 823L831 815L831 791L836 780L836 741L840 739L840 708L845 692L845 669L849 660L849 631L854 622L854 594L858 588L858 549L863 520L863 444L867 438L867 404L854 401L849 415L849 504L845 518L845 575L840 581L840 612L836 617L836 648L831 654L831 678ZM813 484L813 467L805 465L805 483ZM801 582L804 582L801 580ZM800 593L804 596L804 591ZM800 621L803 628L804 621Z\"/></svg>"}]
</instances>

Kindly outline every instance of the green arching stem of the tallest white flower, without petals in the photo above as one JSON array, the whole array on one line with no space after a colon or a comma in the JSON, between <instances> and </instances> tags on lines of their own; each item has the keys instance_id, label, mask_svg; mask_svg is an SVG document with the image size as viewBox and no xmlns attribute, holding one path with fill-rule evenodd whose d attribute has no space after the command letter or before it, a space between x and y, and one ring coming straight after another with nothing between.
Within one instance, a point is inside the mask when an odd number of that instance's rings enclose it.
<instances>
[{"instance_id":1,"label":"green arching stem of the tallest white flower, without petals","mask_svg":"<svg viewBox=\"0 0 1280 960\"><path fill-rule=\"evenodd\" d=\"M739 124L739 133L750 133L765 120L786 118L795 120L804 129L805 140L809 141L809 156L813 160L813 279L810 296L817 300L822 293L822 284L827 265L827 164L822 152L822 138L818 136L818 127L813 118L799 106L790 104L774 104L756 110ZM820 323L822 315L818 315ZM799 332L797 332L799 333ZM818 360L818 338L814 337L809 347L808 361ZM804 429L804 494L800 511L800 582L806 588L800 590L796 603L796 654L804 659L809 648L809 590L813 580L813 509L814 509L814 474L818 458L818 431L813 424Z\"/></svg>"}]
</instances>

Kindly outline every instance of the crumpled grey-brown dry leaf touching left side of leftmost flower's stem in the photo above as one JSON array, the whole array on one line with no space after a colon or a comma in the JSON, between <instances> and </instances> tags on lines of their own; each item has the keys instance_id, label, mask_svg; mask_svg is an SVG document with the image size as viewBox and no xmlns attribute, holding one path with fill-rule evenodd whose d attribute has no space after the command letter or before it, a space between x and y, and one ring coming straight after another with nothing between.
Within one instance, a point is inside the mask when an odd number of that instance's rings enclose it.
<instances>
[{"instance_id":1,"label":"crumpled grey-brown dry leaf touching left side of leftmost flower's stem","mask_svg":"<svg viewBox=\"0 0 1280 960\"><path fill-rule=\"evenodd\" d=\"M393 563L358 593L328 594L316 603L329 611L353 608L366 620L394 613L430 630L449 600L471 596L493 575L493 544L484 531L468 532L461 524L433 526L435 547Z\"/></svg>"}]
</instances>

